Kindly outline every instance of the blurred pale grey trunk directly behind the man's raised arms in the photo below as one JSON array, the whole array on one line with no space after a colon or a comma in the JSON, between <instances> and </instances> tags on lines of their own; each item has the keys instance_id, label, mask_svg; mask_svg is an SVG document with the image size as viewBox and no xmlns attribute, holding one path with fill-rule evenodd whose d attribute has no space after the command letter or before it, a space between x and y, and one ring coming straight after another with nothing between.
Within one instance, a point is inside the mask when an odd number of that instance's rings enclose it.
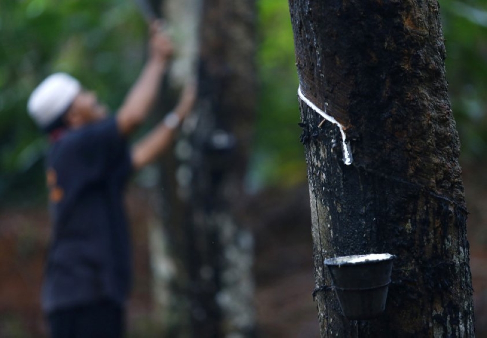
<instances>
[{"instance_id":1,"label":"blurred pale grey trunk directly behind the man's raised arms","mask_svg":"<svg viewBox=\"0 0 487 338\"><path fill-rule=\"evenodd\" d=\"M161 13L175 47L169 71L164 78L156 107L157 120L176 104L185 82L197 73L198 38L201 0L151 0L156 13ZM193 337L191 279L189 259L194 254L191 224L187 221L190 203L189 181L185 163L190 158L189 138L192 129L181 128L174 151L169 151L157 168L147 176L158 176L153 194L157 200L156 217L150 222L149 243L152 267L154 313L160 319L163 337ZM156 123L157 121L154 121ZM158 173L158 174L157 174Z\"/></svg>"}]
</instances>

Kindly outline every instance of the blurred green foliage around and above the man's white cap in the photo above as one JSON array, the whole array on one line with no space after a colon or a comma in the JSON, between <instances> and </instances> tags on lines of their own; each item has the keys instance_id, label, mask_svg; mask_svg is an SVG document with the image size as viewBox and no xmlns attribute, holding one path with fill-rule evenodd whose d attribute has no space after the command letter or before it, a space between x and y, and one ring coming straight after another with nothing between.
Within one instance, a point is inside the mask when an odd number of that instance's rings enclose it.
<instances>
[{"instance_id":1,"label":"blurred green foliage around and above the man's white cap","mask_svg":"<svg viewBox=\"0 0 487 338\"><path fill-rule=\"evenodd\" d=\"M146 27L127 0L0 2L0 200L43 191L45 137L26 112L47 75L80 79L112 109L138 74Z\"/></svg>"}]
</instances>

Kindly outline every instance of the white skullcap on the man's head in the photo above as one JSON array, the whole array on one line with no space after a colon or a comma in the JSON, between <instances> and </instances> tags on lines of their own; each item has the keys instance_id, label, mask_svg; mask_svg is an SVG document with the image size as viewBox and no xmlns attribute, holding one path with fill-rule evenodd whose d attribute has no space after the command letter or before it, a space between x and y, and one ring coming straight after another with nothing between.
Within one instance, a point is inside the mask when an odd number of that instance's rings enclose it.
<instances>
[{"instance_id":1,"label":"white skullcap on the man's head","mask_svg":"<svg viewBox=\"0 0 487 338\"><path fill-rule=\"evenodd\" d=\"M73 103L81 85L73 76L56 73L48 76L32 92L27 110L39 127L48 127Z\"/></svg>"}]
</instances>

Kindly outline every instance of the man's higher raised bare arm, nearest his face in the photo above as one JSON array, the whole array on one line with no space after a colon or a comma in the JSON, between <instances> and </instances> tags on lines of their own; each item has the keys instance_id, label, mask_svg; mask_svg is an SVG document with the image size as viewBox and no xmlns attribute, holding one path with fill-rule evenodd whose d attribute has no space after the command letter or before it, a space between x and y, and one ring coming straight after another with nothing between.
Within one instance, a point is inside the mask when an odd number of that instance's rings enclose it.
<instances>
[{"instance_id":1,"label":"man's higher raised bare arm, nearest his face","mask_svg":"<svg viewBox=\"0 0 487 338\"><path fill-rule=\"evenodd\" d=\"M150 27L149 59L116 115L118 129L124 135L134 131L147 117L173 52L169 37L159 27L159 22L154 22Z\"/></svg>"}]
</instances>

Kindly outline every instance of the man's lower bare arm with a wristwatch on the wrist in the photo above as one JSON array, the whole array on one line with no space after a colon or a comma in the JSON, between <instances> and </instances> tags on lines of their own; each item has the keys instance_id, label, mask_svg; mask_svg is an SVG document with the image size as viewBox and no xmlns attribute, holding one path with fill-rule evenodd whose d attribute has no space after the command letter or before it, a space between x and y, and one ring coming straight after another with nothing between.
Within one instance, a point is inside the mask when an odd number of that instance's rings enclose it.
<instances>
[{"instance_id":1,"label":"man's lower bare arm with a wristwatch on the wrist","mask_svg":"<svg viewBox=\"0 0 487 338\"><path fill-rule=\"evenodd\" d=\"M195 98L195 84L190 83L185 87L174 111L133 146L131 156L134 169L141 169L169 148L177 127L191 111Z\"/></svg>"}]
</instances>

